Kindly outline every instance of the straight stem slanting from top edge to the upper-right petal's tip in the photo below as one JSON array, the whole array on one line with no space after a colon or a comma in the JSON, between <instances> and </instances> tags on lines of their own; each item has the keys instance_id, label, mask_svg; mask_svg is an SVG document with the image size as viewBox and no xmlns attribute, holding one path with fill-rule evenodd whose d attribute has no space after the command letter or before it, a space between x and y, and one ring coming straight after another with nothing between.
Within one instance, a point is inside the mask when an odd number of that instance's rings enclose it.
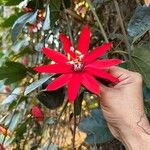
<instances>
[{"instance_id":1,"label":"straight stem slanting from top edge to the upper-right petal's tip","mask_svg":"<svg viewBox=\"0 0 150 150\"><path fill-rule=\"evenodd\" d=\"M95 17L95 19L96 19L98 25L99 25L99 28L100 28L100 30L101 30L101 33L102 33L102 35L103 35L103 37L104 37L105 42L108 43L109 41L108 41L106 32L105 32L105 30L104 30L104 28L103 28L103 25L102 25L100 19L99 19L98 16L97 16L97 13L96 13L96 11L95 11L95 8L92 6L92 3L91 3L90 0L86 0L86 1L87 1L87 3L89 4L89 7L90 7L90 9L91 9L91 11L92 11L92 13L93 13L93 15L94 15L94 17Z\"/></svg>"}]
</instances>

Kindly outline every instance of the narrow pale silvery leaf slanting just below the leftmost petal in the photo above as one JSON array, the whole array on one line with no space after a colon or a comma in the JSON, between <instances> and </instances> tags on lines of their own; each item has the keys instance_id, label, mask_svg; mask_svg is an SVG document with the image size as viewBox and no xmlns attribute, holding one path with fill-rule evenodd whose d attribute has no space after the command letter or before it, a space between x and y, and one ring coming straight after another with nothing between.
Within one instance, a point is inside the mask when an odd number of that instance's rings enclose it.
<instances>
[{"instance_id":1,"label":"narrow pale silvery leaf slanting just below the leftmost petal","mask_svg":"<svg viewBox=\"0 0 150 150\"><path fill-rule=\"evenodd\" d=\"M43 83L45 83L49 78L49 77L44 77L38 81L35 81L33 83L31 83L29 86L27 86L27 88L25 89L24 95L29 94L30 92L32 92L33 90L35 90L36 88L38 88L39 86L41 86Z\"/></svg>"}]
</instances>

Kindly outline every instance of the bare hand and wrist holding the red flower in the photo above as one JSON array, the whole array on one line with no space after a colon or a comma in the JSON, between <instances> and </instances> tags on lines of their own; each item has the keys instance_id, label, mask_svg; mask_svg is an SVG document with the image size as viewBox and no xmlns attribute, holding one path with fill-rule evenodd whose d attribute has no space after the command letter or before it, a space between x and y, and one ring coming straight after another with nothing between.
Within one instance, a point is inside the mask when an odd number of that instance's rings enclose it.
<instances>
[{"instance_id":1,"label":"bare hand and wrist holding the red flower","mask_svg":"<svg viewBox=\"0 0 150 150\"><path fill-rule=\"evenodd\" d=\"M127 150L150 150L142 76L120 67L112 67L109 72L120 81L111 87L101 85L101 109L111 133Z\"/></svg>"}]
</instances>

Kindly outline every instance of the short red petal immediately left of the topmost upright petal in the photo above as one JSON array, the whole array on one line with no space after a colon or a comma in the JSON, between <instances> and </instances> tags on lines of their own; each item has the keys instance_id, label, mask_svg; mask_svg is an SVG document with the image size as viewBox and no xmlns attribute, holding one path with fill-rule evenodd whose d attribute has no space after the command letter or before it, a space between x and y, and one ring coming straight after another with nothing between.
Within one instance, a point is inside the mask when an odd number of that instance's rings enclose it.
<instances>
[{"instance_id":1,"label":"short red petal immediately left of the topmost upright petal","mask_svg":"<svg viewBox=\"0 0 150 150\"><path fill-rule=\"evenodd\" d=\"M71 49L70 49L72 47L72 44L71 44L71 41L69 40L69 38L62 33L60 33L59 38L63 44L66 54L69 53L74 58L75 53L74 53L74 51L71 51Z\"/></svg>"}]
</instances>

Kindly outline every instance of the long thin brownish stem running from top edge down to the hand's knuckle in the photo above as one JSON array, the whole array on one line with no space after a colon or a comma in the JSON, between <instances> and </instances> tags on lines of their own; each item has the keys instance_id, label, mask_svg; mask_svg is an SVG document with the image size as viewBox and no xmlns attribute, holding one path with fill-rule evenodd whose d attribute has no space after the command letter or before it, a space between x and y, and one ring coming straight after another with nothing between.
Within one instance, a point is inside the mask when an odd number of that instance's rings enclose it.
<instances>
[{"instance_id":1,"label":"long thin brownish stem running from top edge down to the hand's knuckle","mask_svg":"<svg viewBox=\"0 0 150 150\"><path fill-rule=\"evenodd\" d=\"M117 0L113 0L113 1L114 1L114 5L115 5L116 11L117 11L118 18L119 18L120 27L121 27L122 33L125 37L124 41L125 41L125 45L126 45L126 48L127 48L128 55L129 55L129 62L130 62L130 68L129 69L131 69L132 57L131 57L130 43L128 41L128 36L126 34L126 30L125 30L125 27L124 27L124 23L123 23L123 19L122 19L122 16L121 16L121 12L120 12L118 2L117 2Z\"/></svg>"}]
</instances>

